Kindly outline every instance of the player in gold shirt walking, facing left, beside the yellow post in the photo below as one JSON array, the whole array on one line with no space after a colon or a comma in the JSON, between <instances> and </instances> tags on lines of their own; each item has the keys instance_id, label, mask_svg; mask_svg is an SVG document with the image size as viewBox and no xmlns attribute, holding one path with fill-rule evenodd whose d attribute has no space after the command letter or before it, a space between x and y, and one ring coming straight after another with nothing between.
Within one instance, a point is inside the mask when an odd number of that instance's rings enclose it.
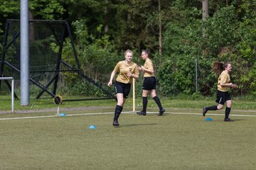
<instances>
[{"instance_id":1,"label":"player in gold shirt walking, facing left, beside the yellow post","mask_svg":"<svg viewBox=\"0 0 256 170\"><path fill-rule=\"evenodd\" d=\"M145 63L142 67L139 67L139 71L144 72L144 81L142 86L142 105L143 109L137 112L138 115L146 115L146 106L148 103L147 96L150 91L151 98L154 99L157 106L159 106L159 115L163 115L165 112L164 108L161 106L161 101L156 96L156 77L154 76L154 67L152 61L149 59L150 51L142 50L142 59Z\"/></svg>"}]
</instances>

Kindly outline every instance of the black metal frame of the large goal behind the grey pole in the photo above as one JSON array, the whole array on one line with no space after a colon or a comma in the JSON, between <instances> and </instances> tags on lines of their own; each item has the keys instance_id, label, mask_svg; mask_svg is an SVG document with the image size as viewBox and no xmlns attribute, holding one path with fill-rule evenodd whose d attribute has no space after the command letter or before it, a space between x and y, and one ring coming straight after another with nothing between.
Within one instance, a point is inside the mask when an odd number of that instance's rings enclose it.
<instances>
[{"instance_id":1,"label":"black metal frame of the large goal behind the grey pole","mask_svg":"<svg viewBox=\"0 0 256 170\"><path fill-rule=\"evenodd\" d=\"M11 67L11 69L13 69L14 71L16 71L18 73L21 72L20 68L15 67L14 64L11 64L10 62L7 62L5 60L7 50L9 49L9 47L11 45L14 45L14 48L16 50L16 60L18 60L18 64L20 64L20 61L21 61L20 60L21 56L19 55L20 53L18 51L18 45L17 45L17 42L16 42L16 39L18 38L18 36L20 36L20 31L18 33L14 33L14 26L13 26L14 21L17 22L19 20L7 20L6 21L6 30L5 30L4 42L3 42L3 53L0 57L0 77L4 77L4 65L6 65L8 67ZM46 23L48 23L48 26L49 26L50 30L52 31L53 36L54 36L55 40L58 42L58 45L59 45L58 60L57 60L55 70L33 71L33 72L53 72L53 77L46 83L46 85L40 84L38 81L36 81L32 77L29 77L29 80L33 84L35 84L36 86L41 88L41 91L38 93L36 98L40 98L44 92L48 93L52 98L55 97L56 89L57 89L57 86L58 86L58 75L60 74L60 72L75 72L80 77L85 79L86 81L89 81L90 84L96 86L97 88L101 89L105 94L107 94L107 98L67 99L67 100L63 100L63 101L102 100L102 99L114 99L115 98L115 96L110 91L107 91L106 89L104 89L102 87L102 84L99 84L99 83L95 82L93 79L91 79L90 77L85 75L82 72L82 70L80 69L80 62L78 60L78 55L77 55L77 52L75 50L74 40L73 40L73 37L72 37L72 34L71 34L71 30L70 30L70 26L68 24L68 21L48 21L48 20L30 20L29 21L29 23L33 23L33 22L46 22ZM62 23L62 26L63 26L60 39L58 38L58 36L55 33L55 30L51 26L51 23L56 23L56 22ZM9 43L7 43L9 31L11 31L12 38L11 38L11 41ZM68 64L67 62L65 62L62 59L62 50L63 50L63 42L65 40L65 35L68 35L68 38L70 38L70 42L71 42L71 45L72 45L72 48L73 48L73 54L75 56L75 64L76 64L75 67L71 66L70 64ZM68 67L68 69L61 69L60 64L64 64L65 67ZM6 83L8 84L8 81L6 81ZM48 87L51 84L53 84L53 91L50 91L48 89ZM0 86L1 86L1 80L0 80ZM10 84L8 86L11 87ZM16 96L16 94L14 94L14 96L15 96L15 98L18 98Z\"/></svg>"}]
</instances>

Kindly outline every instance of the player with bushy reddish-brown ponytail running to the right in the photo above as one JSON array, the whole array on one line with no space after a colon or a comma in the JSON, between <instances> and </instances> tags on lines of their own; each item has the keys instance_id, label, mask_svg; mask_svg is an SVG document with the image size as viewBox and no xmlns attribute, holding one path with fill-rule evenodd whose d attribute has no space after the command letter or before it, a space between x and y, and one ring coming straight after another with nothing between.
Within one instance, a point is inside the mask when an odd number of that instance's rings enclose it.
<instances>
[{"instance_id":1,"label":"player with bushy reddish-brown ponytail running to the right","mask_svg":"<svg viewBox=\"0 0 256 170\"><path fill-rule=\"evenodd\" d=\"M223 70L224 69L224 70ZM220 74L218 77L218 90L217 90L217 106L210 106L203 108L203 116L206 115L207 111L217 111L223 109L224 104L226 104L225 108L225 122L233 122L229 118L231 111L231 97L228 93L230 88L237 88L238 86L230 82L230 75L232 66L229 62L223 64L222 62L214 62L213 63L213 72L216 74ZM221 72L223 71L223 72ZM220 73L221 72L221 73Z\"/></svg>"}]
</instances>

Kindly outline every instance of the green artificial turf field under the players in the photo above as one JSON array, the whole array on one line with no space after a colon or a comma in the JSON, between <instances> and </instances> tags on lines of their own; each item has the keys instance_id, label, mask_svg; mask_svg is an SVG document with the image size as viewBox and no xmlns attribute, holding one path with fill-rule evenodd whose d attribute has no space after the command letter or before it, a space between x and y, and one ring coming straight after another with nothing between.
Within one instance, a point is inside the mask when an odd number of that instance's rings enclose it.
<instances>
[{"instance_id":1,"label":"green artificial turf field under the players","mask_svg":"<svg viewBox=\"0 0 256 170\"><path fill-rule=\"evenodd\" d=\"M0 115L0 169L256 169L256 111L112 110Z\"/></svg>"}]
</instances>

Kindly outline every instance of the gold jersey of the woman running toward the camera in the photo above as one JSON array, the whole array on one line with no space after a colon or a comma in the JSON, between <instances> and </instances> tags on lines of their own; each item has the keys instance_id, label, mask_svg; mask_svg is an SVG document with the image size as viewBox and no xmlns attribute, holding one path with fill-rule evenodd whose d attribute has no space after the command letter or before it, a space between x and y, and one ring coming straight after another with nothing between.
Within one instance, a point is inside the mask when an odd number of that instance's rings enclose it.
<instances>
[{"instance_id":1,"label":"gold jersey of the woman running toward the camera","mask_svg":"<svg viewBox=\"0 0 256 170\"><path fill-rule=\"evenodd\" d=\"M117 65L114 67L114 70L116 72L119 72L116 80L124 84L129 84L132 82L132 77L127 77L128 72L139 75L139 69L137 64L134 62L130 62L129 64L127 64L125 60L118 62Z\"/></svg>"}]
</instances>

